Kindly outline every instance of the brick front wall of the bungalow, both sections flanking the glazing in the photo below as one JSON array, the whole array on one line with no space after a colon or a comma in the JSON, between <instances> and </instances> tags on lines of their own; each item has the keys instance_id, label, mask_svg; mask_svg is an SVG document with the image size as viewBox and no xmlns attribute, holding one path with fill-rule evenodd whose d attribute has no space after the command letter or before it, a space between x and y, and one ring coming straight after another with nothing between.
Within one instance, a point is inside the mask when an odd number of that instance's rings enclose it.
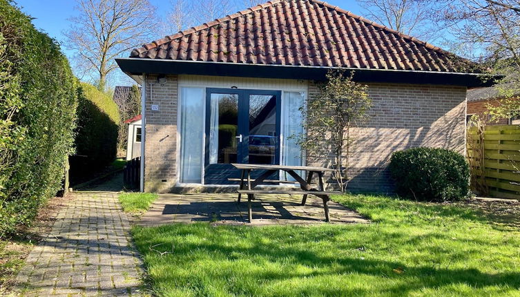
<instances>
[{"instance_id":1,"label":"brick front wall of the bungalow, both sections flanking the glazing","mask_svg":"<svg viewBox=\"0 0 520 297\"><path fill-rule=\"evenodd\" d=\"M145 191L168 192L175 186L177 89L176 76L168 76L164 86L157 77L149 77L146 84ZM317 91L309 84L309 96ZM393 151L430 146L463 153L465 92L464 87L369 84L372 117L352 131L356 140L350 154L349 189L392 191L386 166ZM151 111L152 104L159 111Z\"/></svg>"}]
</instances>

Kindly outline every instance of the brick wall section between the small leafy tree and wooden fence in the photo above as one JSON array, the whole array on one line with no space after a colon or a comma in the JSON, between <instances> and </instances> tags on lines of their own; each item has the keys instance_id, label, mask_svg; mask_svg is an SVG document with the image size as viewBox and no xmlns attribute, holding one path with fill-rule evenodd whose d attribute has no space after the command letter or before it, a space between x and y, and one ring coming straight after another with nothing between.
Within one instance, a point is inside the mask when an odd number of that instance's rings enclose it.
<instances>
[{"instance_id":1,"label":"brick wall section between the small leafy tree and wooden fence","mask_svg":"<svg viewBox=\"0 0 520 297\"><path fill-rule=\"evenodd\" d=\"M317 92L309 86L310 96ZM352 130L349 190L392 191L386 167L394 151L429 146L464 152L466 88L369 84L368 93L369 122Z\"/></svg>"}]
</instances>

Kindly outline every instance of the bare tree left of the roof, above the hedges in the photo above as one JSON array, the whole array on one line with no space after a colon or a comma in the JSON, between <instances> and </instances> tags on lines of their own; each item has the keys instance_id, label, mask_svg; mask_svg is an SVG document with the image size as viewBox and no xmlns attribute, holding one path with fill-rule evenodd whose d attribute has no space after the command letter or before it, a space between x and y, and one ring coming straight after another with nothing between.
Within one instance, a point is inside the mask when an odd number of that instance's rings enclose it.
<instances>
[{"instance_id":1,"label":"bare tree left of the roof, above the hedges","mask_svg":"<svg viewBox=\"0 0 520 297\"><path fill-rule=\"evenodd\" d=\"M148 0L77 0L76 10L79 15L70 19L73 26L65 32L68 47L75 50L79 68L104 91L108 75L117 68L114 59L153 32L155 8Z\"/></svg>"}]
</instances>

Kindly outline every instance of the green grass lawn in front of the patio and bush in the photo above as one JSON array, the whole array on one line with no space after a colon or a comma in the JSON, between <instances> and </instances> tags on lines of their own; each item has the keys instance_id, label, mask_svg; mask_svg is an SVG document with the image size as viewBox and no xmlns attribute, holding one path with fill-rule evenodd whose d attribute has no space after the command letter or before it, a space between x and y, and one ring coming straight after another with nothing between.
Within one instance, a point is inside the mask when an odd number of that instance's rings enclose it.
<instances>
[{"instance_id":1,"label":"green grass lawn in front of the patio and bush","mask_svg":"<svg viewBox=\"0 0 520 297\"><path fill-rule=\"evenodd\" d=\"M520 296L520 231L463 204L336 201L372 224L134 227L158 296Z\"/></svg>"}]
</instances>

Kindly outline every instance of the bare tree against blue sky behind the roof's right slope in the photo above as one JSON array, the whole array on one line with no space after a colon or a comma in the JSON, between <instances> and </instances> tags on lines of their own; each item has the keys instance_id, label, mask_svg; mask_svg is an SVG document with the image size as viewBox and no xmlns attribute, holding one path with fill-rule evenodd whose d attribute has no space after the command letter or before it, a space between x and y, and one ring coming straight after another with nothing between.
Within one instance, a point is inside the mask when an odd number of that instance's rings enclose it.
<instances>
[{"instance_id":1,"label":"bare tree against blue sky behind the roof's right slope","mask_svg":"<svg viewBox=\"0 0 520 297\"><path fill-rule=\"evenodd\" d=\"M357 0L369 19L407 35L434 39L429 23L434 1Z\"/></svg>"}]
</instances>

